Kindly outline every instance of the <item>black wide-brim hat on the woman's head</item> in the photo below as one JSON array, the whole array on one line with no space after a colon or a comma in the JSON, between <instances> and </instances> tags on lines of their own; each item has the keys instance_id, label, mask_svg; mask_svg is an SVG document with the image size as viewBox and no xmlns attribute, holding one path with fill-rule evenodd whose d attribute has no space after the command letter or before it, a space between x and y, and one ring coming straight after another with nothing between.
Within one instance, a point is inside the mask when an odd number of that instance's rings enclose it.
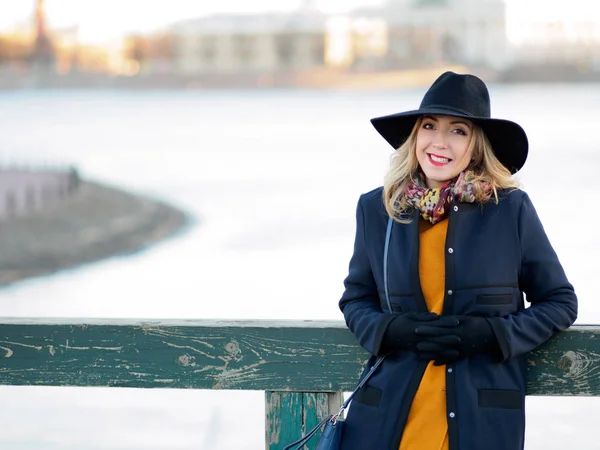
<instances>
[{"instance_id":1,"label":"black wide-brim hat on the woman's head","mask_svg":"<svg viewBox=\"0 0 600 450\"><path fill-rule=\"evenodd\" d=\"M469 119L483 129L496 158L511 173L525 164L529 149L525 131L515 122L491 118L490 94L476 76L445 72L425 93L419 109L376 117L371 123L397 149L408 139L417 119L425 114Z\"/></svg>"}]
</instances>

